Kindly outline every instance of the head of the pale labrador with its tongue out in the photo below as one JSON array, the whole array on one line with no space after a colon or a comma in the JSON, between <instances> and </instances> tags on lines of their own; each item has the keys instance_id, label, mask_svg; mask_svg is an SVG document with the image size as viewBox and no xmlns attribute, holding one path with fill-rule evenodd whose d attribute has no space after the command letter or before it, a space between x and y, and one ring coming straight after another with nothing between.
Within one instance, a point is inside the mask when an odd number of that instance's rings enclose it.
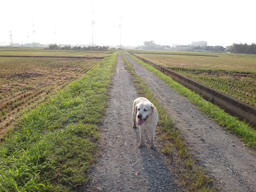
<instances>
[{"instance_id":1,"label":"head of the pale labrador with its tongue out","mask_svg":"<svg viewBox=\"0 0 256 192\"><path fill-rule=\"evenodd\" d=\"M154 114L154 105L150 102L140 102L136 105L136 114L138 125L142 125L147 120L148 116Z\"/></svg>"}]
</instances>

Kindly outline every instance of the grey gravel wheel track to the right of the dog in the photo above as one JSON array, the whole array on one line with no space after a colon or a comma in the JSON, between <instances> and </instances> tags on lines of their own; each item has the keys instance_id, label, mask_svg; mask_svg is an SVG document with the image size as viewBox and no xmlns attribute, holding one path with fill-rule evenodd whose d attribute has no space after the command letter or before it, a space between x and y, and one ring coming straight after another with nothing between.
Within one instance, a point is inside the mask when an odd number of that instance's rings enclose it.
<instances>
[{"instance_id":1,"label":"grey gravel wheel track to the right of the dog","mask_svg":"<svg viewBox=\"0 0 256 192\"><path fill-rule=\"evenodd\" d=\"M222 192L256 192L255 150L244 146L237 136L215 124L132 58L127 55L126 58L161 101L162 107L166 107L175 125L183 130L194 158L199 158L200 166L214 176L214 185Z\"/></svg>"}]
</instances>

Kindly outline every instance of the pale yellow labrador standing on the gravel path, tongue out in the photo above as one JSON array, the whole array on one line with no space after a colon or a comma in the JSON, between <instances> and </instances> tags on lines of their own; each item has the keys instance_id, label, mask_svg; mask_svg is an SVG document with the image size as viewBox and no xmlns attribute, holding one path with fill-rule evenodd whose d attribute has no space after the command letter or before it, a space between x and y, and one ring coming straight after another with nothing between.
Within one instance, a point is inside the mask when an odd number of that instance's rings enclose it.
<instances>
[{"instance_id":1,"label":"pale yellow labrador standing on the gravel path, tongue out","mask_svg":"<svg viewBox=\"0 0 256 192\"><path fill-rule=\"evenodd\" d=\"M151 131L151 148L155 149L154 144L156 124L158 122L158 112L156 107L146 98L139 97L133 102L133 128L136 128L136 121L140 130L140 143L139 147L143 147L143 132L144 130Z\"/></svg>"}]
</instances>

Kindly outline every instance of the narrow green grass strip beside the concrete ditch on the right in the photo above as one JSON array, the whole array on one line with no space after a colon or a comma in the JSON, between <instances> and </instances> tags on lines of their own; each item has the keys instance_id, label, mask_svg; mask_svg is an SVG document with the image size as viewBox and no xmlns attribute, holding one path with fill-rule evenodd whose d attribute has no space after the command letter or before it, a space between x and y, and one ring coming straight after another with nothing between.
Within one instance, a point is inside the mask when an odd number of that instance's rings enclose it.
<instances>
[{"instance_id":1,"label":"narrow green grass strip beside the concrete ditch on the right","mask_svg":"<svg viewBox=\"0 0 256 192\"><path fill-rule=\"evenodd\" d=\"M223 126L229 132L236 134L244 144L249 147L256 148L256 131L249 126L245 121L240 121L238 117L231 116L230 114L224 112L220 107L202 100L202 97L195 92L192 92L188 88L182 86L178 82L172 80L171 77L166 76L153 66L146 64L139 60L138 58L129 54L136 62L141 64L144 68L150 70L153 74L158 76L162 81L164 81L168 86L170 86L174 91L178 92L182 96L185 96L197 106L197 108L212 118L214 122Z\"/></svg>"}]
</instances>

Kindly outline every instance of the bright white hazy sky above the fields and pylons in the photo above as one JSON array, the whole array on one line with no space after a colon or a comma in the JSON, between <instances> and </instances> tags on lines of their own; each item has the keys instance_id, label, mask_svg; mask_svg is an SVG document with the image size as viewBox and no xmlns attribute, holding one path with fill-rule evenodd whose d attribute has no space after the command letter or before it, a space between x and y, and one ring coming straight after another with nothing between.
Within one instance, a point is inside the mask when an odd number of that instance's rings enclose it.
<instances>
[{"instance_id":1,"label":"bright white hazy sky above the fields and pylons","mask_svg":"<svg viewBox=\"0 0 256 192\"><path fill-rule=\"evenodd\" d=\"M124 46L251 44L255 13L255 0L3 0L0 44L10 44L10 30L13 43L92 44L92 19L94 45L119 45L120 32Z\"/></svg>"}]
</instances>

